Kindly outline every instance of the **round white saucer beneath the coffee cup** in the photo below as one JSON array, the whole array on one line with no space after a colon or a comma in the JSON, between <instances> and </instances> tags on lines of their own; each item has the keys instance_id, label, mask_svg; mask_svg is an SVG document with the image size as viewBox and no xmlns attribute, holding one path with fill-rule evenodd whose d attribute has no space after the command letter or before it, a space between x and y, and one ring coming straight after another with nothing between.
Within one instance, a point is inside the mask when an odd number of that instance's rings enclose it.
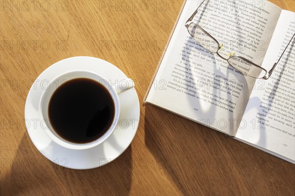
<instances>
[{"instance_id":1,"label":"round white saucer beneath the coffee cup","mask_svg":"<svg viewBox=\"0 0 295 196\"><path fill-rule=\"evenodd\" d=\"M127 90L120 97L120 117L114 133L103 143L87 150L71 150L51 140L42 127L38 103L47 81L74 70L89 70L111 81L126 80L128 77L111 63L99 58L77 56L61 60L48 67L36 79L29 90L25 106L25 119L29 137L36 148L50 161L74 169L97 168L115 160L133 140L140 118L139 100L135 89ZM45 86L45 87L44 87Z\"/></svg>"}]
</instances>

